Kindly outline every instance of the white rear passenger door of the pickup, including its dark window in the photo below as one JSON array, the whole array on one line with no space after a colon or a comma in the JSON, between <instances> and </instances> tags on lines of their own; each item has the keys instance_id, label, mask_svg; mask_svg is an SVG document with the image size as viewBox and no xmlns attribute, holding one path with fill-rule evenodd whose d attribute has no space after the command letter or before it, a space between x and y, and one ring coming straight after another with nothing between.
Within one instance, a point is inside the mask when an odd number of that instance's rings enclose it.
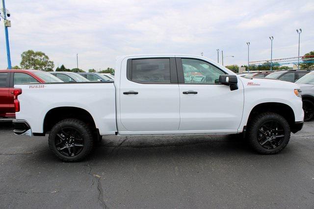
<instances>
[{"instance_id":1,"label":"white rear passenger door of the pickup, including its dark window","mask_svg":"<svg viewBox=\"0 0 314 209\"><path fill-rule=\"evenodd\" d=\"M175 58L171 57L127 61L119 93L120 121L125 131L178 131L180 98L176 73Z\"/></svg>"}]
</instances>

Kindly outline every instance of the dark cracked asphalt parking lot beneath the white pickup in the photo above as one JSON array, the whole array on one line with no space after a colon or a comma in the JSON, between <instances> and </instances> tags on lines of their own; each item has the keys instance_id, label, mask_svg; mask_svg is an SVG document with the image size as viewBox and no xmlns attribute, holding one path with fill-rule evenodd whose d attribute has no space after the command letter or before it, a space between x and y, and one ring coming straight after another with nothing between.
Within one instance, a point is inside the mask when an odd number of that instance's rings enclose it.
<instances>
[{"instance_id":1,"label":"dark cracked asphalt parking lot beneath the white pickup","mask_svg":"<svg viewBox=\"0 0 314 209\"><path fill-rule=\"evenodd\" d=\"M314 121L278 155L234 135L104 137L80 163L0 122L0 208L313 208Z\"/></svg>"}]
</instances>

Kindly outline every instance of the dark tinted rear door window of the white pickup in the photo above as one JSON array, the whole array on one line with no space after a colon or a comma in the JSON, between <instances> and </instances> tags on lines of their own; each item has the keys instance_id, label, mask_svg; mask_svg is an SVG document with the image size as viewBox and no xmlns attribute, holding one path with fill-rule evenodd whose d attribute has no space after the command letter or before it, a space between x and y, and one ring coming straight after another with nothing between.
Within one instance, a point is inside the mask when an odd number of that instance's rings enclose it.
<instances>
[{"instance_id":1,"label":"dark tinted rear door window of the white pickup","mask_svg":"<svg viewBox=\"0 0 314 209\"><path fill-rule=\"evenodd\" d=\"M138 83L170 83L170 60L136 59L132 60L131 80Z\"/></svg>"}]
</instances>

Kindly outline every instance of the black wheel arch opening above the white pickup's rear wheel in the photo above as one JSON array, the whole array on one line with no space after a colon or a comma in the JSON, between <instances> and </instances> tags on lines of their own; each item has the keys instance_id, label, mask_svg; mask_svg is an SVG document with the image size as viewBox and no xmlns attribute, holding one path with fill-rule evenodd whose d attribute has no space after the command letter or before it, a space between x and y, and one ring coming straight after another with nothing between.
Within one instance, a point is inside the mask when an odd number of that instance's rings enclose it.
<instances>
[{"instance_id":1,"label":"black wheel arch opening above the white pickup's rear wheel","mask_svg":"<svg viewBox=\"0 0 314 209\"><path fill-rule=\"evenodd\" d=\"M66 118L80 119L91 128L96 129L94 118L87 110L78 107L64 106L52 108L47 112L43 123L44 134L50 132L52 126L57 122Z\"/></svg>"}]
</instances>

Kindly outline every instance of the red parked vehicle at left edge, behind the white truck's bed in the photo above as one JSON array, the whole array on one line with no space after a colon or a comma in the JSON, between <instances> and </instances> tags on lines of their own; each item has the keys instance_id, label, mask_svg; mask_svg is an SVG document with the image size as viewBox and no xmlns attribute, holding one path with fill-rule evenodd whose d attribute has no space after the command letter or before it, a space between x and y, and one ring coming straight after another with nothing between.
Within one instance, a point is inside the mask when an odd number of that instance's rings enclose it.
<instances>
[{"instance_id":1,"label":"red parked vehicle at left edge, behind the white truck's bed","mask_svg":"<svg viewBox=\"0 0 314 209\"><path fill-rule=\"evenodd\" d=\"M15 117L14 85L61 82L39 70L0 70L0 118Z\"/></svg>"}]
</instances>

